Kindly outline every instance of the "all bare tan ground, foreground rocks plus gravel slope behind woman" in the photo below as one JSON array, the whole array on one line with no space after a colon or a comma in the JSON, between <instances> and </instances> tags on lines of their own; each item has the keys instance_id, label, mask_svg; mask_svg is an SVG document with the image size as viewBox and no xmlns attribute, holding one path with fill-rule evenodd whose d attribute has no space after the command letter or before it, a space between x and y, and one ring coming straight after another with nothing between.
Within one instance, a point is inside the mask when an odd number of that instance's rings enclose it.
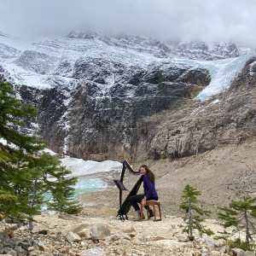
<instances>
[{"instance_id":1,"label":"all bare tan ground, foreground rocks plus gravel slope behind woman","mask_svg":"<svg viewBox=\"0 0 256 256\"><path fill-rule=\"evenodd\" d=\"M188 241L180 227L183 212L178 209L182 190L189 183L201 191L201 206L212 210L204 224L218 234L223 228L216 218L217 207L241 195L255 195L255 149L256 143L252 141L179 160L145 162L156 175L161 221L136 222L132 209L128 220L121 221L117 217L119 190L115 187L80 195L84 210L79 216L42 212L35 217L36 222L19 228L2 221L0 255L255 256L253 252L230 249L214 236L201 238L195 233L195 241ZM133 169L138 170L140 164L133 164ZM125 173L125 178L129 193L138 177Z\"/></svg>"}]
</instances>

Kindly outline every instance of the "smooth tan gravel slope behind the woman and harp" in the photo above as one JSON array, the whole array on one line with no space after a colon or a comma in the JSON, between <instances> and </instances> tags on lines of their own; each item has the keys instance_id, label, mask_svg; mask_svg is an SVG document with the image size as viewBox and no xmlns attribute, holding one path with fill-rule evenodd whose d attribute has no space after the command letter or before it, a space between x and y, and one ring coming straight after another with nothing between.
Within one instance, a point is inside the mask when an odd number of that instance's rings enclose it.
<instances>
[{"instance_id":1,"label":"smooth tan gravel slope behind the woman and harp","mask_svg":"<svg viewBox=\"0 0 256 256\"><path fill-rule=\"evenodd\" d=\"M215 148L203 154L177 160L148 160L134 163L138 170L147 164L156 176L163 216L181 216L179 204L186 184L201 191L198 197L201 206L212 211L216 217L218 207L227 206L231 200L240 200L243 195L256 196L256 142L246 142L224 148ZM138 176L125 172L123 201L137 182ZM143 186L138 193L143 191ZM84 204L82 215L108 217L119 210L119 189L113 187L104 191L79 195ZM134 215L131 209L129 215Z\"/></svg>"}]
</instances>

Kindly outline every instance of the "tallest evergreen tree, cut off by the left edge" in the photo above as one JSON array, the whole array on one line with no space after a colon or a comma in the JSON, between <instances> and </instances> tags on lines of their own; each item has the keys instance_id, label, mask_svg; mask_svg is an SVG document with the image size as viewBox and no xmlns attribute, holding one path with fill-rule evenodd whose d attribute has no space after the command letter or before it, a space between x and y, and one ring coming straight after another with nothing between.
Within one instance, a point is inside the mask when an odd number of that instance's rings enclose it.
<instances>
[{"instance_id":1,"label":"tallest evergreen tree, cut off by the left edge","mask_svg":"<svg viewBox=\"0 0 256 256\"><path fill-rule=\"evenodd\" d=\"M28 165L33 161L32 155L45 148L45 143L15 130L17 125L23 125L23 119L36 114L37 110L32 104L22 105L14 93L12 84L0 80L0 189L3 200L9 200L9 195L16 199L4 214L22 217L38 212L38 208L27 204L27 189L33 176Z\"/></svg>"}]
</instances>

